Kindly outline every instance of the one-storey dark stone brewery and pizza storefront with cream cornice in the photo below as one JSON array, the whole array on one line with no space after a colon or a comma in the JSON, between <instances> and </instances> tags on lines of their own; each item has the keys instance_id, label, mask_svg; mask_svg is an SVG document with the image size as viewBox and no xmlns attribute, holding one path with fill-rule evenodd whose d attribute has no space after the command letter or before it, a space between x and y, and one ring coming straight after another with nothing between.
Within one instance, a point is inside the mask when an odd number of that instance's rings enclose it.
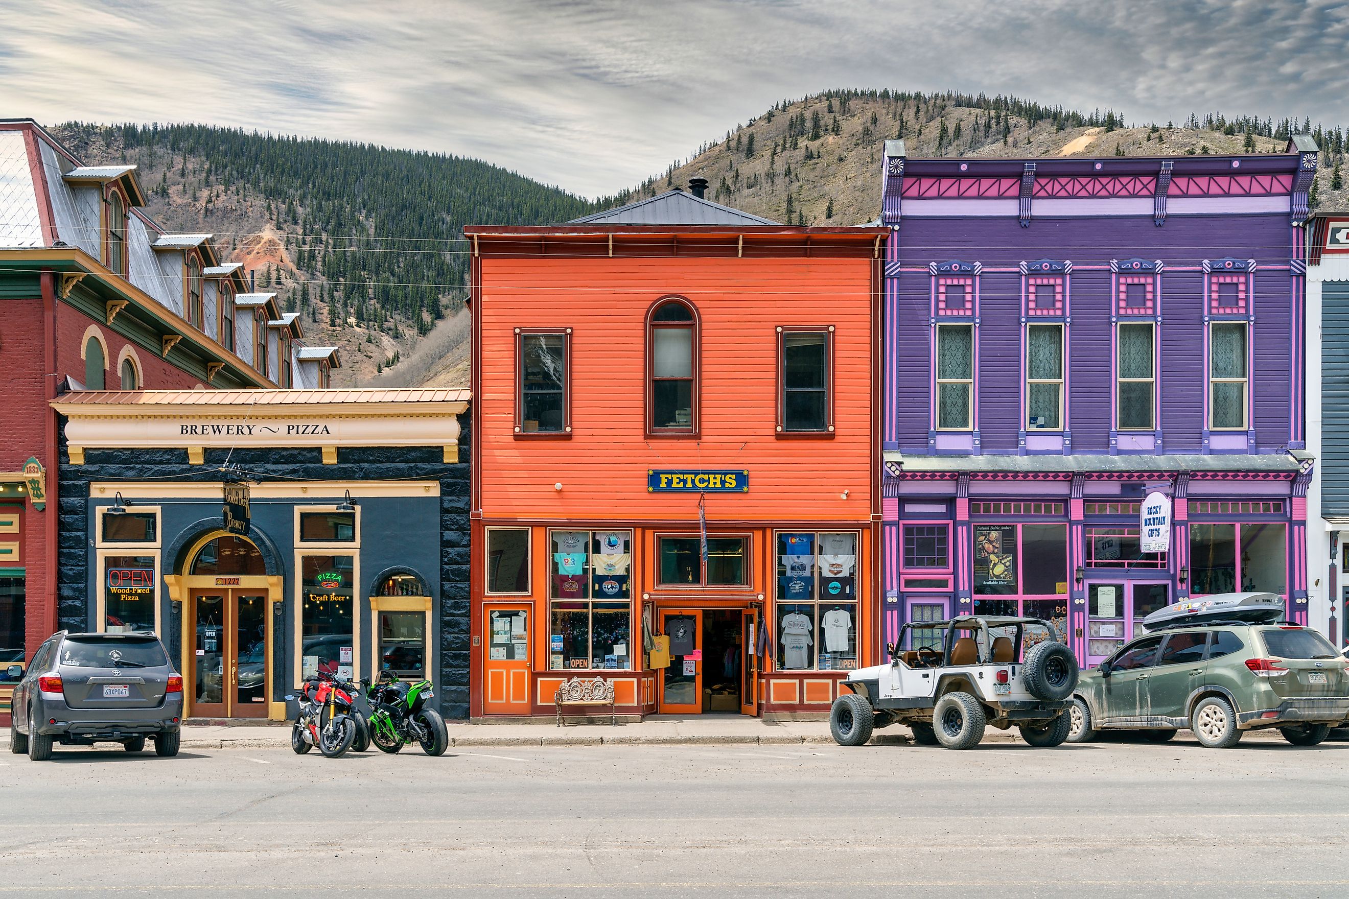
<instances>
[{"instance_id":1,"label":"one-storey dark stone brewery and pizza storefront with cream cornice","mask_svg":"<svg viewBox=\"0 0 1349 899\"><path fill-rule=\"evenodd\" d=\"M314 392L291 391L294 404L247 412L198 394L202 406L142 394L130 411L96 394L55 403L59 625L156 629L200 706L192 717L278 718L305 674L390 669L430 678L445 717L465 718L467 392L314 403ZM246 446L240 427L217 438L183 425L244 414ZM146 445L169 439L205 445ZM247 538L223 527L231 478L250 484Z\"/></svg>"}]
</instances>

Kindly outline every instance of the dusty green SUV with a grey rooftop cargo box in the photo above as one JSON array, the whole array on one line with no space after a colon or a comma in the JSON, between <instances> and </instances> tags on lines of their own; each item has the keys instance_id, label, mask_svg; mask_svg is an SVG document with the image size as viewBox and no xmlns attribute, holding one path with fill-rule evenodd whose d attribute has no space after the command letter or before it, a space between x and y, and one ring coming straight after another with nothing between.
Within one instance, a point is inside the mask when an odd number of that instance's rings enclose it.
<instances>
[{"instance_id":1,"label":"dusty green SUV with a grey rooftop cargo box","mask_svg":"<svg viewBox=\"0 0 1349 899\"><path fill-rule=\"evenodd\" d=\"M1269 593L1228 593L1160 609L1149 631L1083 671L1068 706L1068 741L1128 729L1161 743L1188 728L1226 748L1279 728L1315 745L1349 717L1346 662L1317 631L1280 623Z\"/></svg>"}]
</instances>

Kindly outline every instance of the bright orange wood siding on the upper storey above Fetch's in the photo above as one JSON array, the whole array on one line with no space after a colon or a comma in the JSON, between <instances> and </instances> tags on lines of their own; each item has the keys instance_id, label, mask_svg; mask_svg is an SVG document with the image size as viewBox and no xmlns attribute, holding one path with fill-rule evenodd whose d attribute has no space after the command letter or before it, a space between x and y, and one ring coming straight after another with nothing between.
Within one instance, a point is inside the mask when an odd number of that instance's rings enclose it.
<instances>
[{"instance_id":1,"label":"bright orange wood siding on the upper storey above Fetch's","mask_svg":"<svg viewBox=\"0 0 1349 899\"><path fill-rule=\"evenodd\" d=\"M482 257L483 518L696 523L696 493L646 491L660 468L749 470L747 493L707 496L710 520L867 520L871 268L865 257ZM669 295L701 319L697 439L643 437L645 319ZM832 437L776 437L780 325L836 329ZM514 434L517 328L572 329L569 437Z\"/></svg>"}]
</instances>

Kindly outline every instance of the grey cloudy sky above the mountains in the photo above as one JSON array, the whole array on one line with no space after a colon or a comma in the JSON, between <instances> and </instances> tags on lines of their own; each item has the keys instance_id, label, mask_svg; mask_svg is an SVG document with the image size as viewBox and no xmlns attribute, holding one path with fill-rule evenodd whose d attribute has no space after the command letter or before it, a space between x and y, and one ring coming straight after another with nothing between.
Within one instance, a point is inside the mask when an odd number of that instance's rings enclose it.
<instances>
[{"instance_id":1,"label":"grey cloudy sky above the mountains","mask_svg":"<svg viewBox=\"0 0 1349 899\"><path fill-rule=\"evenodd\" d=\"M585 195L826 88L1349 123L1349 1L0 0L0 117L478 156Z\"/></svg>"}]
</instances>

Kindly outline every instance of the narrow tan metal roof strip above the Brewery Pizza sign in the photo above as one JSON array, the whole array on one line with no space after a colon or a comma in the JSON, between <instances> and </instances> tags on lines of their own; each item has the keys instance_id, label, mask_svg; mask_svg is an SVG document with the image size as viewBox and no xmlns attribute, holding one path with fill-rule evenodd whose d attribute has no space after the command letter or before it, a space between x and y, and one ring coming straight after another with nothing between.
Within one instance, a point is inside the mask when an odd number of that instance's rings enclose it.
<instances>
[{"instance_id":1,"label":"narrow tan metal roof strip above the Brewery Pizza sign","mask_svg":"<svg viewBox=\"0 0 1349 899\"><path fill-rule=\"evenodd\" d=\"M467 403L471 392L445 388L77 391L58 406L312 406L337 403Z\"/></svg>"}]
</instances>

